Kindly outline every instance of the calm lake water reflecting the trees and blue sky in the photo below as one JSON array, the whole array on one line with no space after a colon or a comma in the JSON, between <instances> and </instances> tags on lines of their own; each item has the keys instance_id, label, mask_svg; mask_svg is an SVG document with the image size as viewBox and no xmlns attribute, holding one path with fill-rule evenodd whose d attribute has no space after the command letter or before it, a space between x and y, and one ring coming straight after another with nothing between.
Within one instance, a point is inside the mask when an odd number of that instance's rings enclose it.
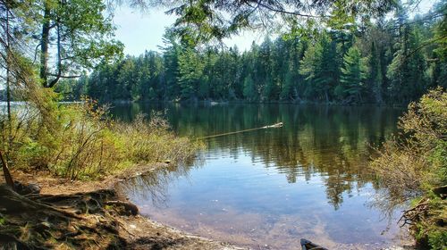
<instances>
[{"instance_id":1,"label":"calm lake water reflecting the trees and blue sky","mask_svg":"<svg viewBox=\"0 0 447 250\"><path fill-rule=\"evenodd\" d=\"M203 161L131 179L122 186L155 221L255 249L300 249L308 238L330 249L399 245L397 214L372 206L380 191L367 171L402 110L288 104L115 106L116 118L163 113L181 136L205 137Z\"/></svg>"}]
</instances>

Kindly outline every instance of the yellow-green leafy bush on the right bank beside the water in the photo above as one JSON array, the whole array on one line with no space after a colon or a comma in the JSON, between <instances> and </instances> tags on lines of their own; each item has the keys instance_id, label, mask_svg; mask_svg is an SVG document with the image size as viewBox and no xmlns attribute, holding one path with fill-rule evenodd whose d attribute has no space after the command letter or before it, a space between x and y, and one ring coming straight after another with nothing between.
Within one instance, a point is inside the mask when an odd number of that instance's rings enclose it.
<instances>
[{"instance_id":1,"label":"yellow-green leafy bush on the right bank beside the water","mask_svg":"<svg viewBox=\"0 0 447 250\"><path fill-rule=\"evenodd\" d=\"M445 189L447 188L447 93L430 91L418 103L409 104L401 117L403 134L384 143L371 162L386 188L391 207L411 204L403 214L421 244L433 249L447 246ZM434 190L443 190L435 192ZM418 202L414 202L418 201Z\"/></svg>"}]
</instances>

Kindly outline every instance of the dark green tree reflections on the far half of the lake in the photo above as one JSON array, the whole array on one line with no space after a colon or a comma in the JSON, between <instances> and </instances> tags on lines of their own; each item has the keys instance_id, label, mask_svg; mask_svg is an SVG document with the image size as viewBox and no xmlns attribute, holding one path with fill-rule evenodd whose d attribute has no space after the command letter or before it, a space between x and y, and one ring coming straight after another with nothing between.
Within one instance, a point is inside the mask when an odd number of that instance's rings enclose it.
<instances>
[{"instance_id":1,"label":"dark green tree reflections on the far half of the lake","mask_svg":"<svg viewBox=\"0 0 447 250\"><path fill-rule=\"evenodd\" d=\"M153 108L153 107L150 107ZM156 107L164 110L165 107ZM142 107L149 112L149 107ZM338 209L342 195L372 180L366 169L370 144L379 144L396 128L399 110L377 107L228 104L170 106L166 116L181 135L196 137L262 127L282 121L282 129L261 129L206 141L210 152L229 149L274 166L294 183L318 175L329 203Z\"/></svg>"}]
</instances>

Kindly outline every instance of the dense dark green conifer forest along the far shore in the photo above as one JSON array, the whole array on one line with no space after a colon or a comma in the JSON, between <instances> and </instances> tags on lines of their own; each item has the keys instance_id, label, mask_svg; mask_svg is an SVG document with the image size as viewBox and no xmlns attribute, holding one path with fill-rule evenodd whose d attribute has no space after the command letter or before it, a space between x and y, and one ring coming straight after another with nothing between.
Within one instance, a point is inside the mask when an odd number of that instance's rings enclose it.
<instances>
[{"instance_id":1,"label":"dense dark green conifer forest along the far shore","mask_svg":"<svg viewBox=\"0 0 447 250\"><path fill-rule=\"evenodd\" d=\"M166 30L162 52L99 63L61 81L65 100L88 95L116 101L235 101L408 104L447 85L442 17L445 4L409 18L361 26L329 23L314 32L268 36L249 51L223 44L190 46Z\"/></svg>"}]
</instances>

